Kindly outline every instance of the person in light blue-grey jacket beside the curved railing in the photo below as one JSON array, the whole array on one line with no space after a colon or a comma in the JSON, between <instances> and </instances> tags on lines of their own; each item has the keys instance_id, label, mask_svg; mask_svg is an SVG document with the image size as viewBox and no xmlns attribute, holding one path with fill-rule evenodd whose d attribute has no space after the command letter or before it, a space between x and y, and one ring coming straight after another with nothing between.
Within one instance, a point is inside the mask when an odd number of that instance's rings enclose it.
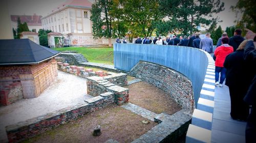
<instances>
[{"instance_id":1,"label":"person in light blue-grey jacket beside the curved railing","mask_svg":"<svg viewBox=\"0 0 256 143\"><path fill-rule=\"evenodd\" d=\"M210 33L206 33L205 38L200 41L200 49L207 51L208 53L212 53L214 50L214 43L210 38Z\"/></svg>"}]
</instances>

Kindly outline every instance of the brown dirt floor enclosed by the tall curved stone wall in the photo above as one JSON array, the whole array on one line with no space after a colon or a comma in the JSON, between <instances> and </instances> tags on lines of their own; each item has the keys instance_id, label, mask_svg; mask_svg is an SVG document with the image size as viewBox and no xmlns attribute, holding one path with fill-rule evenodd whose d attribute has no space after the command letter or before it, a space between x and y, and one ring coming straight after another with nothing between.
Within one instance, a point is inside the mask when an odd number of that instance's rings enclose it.
<instances>
[{"instance_id":1,"label":"brown dirt floor enclosed by the tall curved stone wall","mask_svg":"<svg viewBox=\"0 0 256 143\"><path fill-rule=\"evenodd\" d=\"M173 115L181 110L181 106L170 98L167 93L147 82L140 81L125 88L129 89L129 102L157 114L166 112L169 115Z\"/></svg>"}]
</instances>

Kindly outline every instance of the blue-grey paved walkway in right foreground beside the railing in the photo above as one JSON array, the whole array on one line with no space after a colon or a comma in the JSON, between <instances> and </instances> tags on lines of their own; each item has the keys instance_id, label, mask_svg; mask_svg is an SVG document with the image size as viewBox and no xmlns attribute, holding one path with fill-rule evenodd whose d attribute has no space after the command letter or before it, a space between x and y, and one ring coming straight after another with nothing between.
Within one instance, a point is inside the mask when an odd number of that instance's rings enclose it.
<instances>
[{"instance_id":1,"label":"blue-grey paved walkway in right foreground beside the railing","mask_svg":"<svg viewBox=\"0 0 256 143\"><path fill-rule=\"evenodd\" d=\"M230 96L226 85L215 88L215 108L212 119L211 142L245 142L246 122L232 120L230 117Z\"/></svg>"}]
</instances>

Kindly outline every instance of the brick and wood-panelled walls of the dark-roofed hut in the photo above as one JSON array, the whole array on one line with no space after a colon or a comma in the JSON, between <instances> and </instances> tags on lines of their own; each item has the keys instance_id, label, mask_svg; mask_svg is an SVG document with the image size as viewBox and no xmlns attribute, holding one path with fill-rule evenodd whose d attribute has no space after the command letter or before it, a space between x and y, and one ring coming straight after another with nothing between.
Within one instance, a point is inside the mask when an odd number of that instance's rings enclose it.
<instances>
[{"instance_id":1,"label":"brick and wood-panelled walls of the dark-roofed hut","mask_svg":"<svg viewBox=\"0 0 256 143\"><path fill-rule=\"evenodd\" d=\"M54 59L36 65L1 66L0 102L9 105L22 97L37 97L56 76L57 62Z\"/></svg>"}]
</instances>

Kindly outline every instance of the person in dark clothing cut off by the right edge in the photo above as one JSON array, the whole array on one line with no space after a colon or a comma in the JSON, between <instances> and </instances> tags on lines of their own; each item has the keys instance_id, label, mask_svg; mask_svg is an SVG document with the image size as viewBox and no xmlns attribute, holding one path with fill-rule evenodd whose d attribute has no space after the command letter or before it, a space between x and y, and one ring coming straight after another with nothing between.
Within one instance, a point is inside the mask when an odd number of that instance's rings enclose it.
<instances>
[{"instance_id":1,"label":"person in dark clothing cut off by the right edge","mask_svg":"<svg viewBox=\"0 0 256 143\"><path fill-rule=\"evenodd\" d=\"M256 115L255 115L255 105L256 105L256 49L254 48L253 41L255 40L256 34L252 31L245 29L247 32L246 39L248 42L244 49L244 59L246 62L252 62L252 70L254 70L254 78L250 85L250 88L245 95L244 101L251 105L251 112L247 119L246 129L245 129L245 140L246 142L255 142L256 140Z\"/></svg>"}]
</instances>

